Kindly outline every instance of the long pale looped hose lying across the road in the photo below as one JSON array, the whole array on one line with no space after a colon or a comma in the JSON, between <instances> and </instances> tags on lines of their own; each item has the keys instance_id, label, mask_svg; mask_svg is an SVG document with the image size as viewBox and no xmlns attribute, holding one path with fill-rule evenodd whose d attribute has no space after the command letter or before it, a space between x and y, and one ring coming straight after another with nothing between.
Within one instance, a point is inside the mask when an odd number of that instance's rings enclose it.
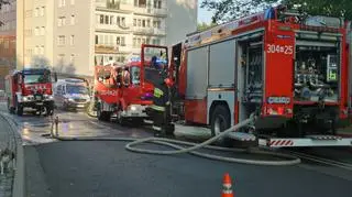
<instances>
[{"instance_id":1,"label":"long pale looped hose lying across the road","mask_svg":"<svg viewBox=\"0 0 352 197\"><path fill-rule=\"evenodd\" d=\"M211 146L212 142L217 141L219 138L222 138L227 135L230 132L237 131L242 127L248 125L252 121L255 120L254 116L251 116L249 119L240 122L239 124L233 125L232 128L221 132L219 135L216 135L202 143L191 143L191 142L185 142L179 140L172 140L172 139L163 139L163 138L146 138L146 139L134 139L134 138L90 138L90 136L58 136L54 135L53 138L61 140L61 141L131 141L125 145L125 149L132 152L136 153L146 153L146 154L160 154L160 155L170 155L170 154L180 154L180 153L190 153L197 156L210 158L210 160L217 160L217 161L223 161L223 162L232 162L232 163L241 163L241 164L253 164L253 165L295 165L300 163L300 158L287 154L282 153L275 153L275 152L266 152L266 151L260 151L260 150L239 150L239 149L228 149L228 147L218 147L218 146ZM177 149L175 151L160 151L160 150L143 150L134 147L138 144L142 143L155 143L155 144L162 144L166 146L170 146L174 149ZM183 145L193 145L190 147L183 147L180 145L176 144L183 144ZM213 155L213 154L207 154L207 153L200 153L196 152L195 150L198 149L209 149L209 150L217 150L217 151L231 151L231 152L250 152L255 154L266 154L272 156L278 156L288 158L285 161L260 161L260 160L245 160L245 158L234 158L234 157L226 157L220 155Z\"/></svg>"}]
</instances>

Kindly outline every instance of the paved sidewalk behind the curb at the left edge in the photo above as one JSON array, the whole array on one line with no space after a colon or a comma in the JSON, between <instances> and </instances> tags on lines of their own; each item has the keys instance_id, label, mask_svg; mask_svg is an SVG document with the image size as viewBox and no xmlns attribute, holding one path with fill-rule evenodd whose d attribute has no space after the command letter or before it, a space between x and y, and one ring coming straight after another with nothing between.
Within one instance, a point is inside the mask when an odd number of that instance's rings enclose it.
<instances>
[{"instance_id":1,"label":"paved sidewalk behind the curb at the left edge","mask_svg":"<svg viewBox=\"0 0 352 197\"><path fill-rule=\"evenodd\" d=\"M3 150L9 147L14 150L15 142L11 133L11 128L1 117L0 117L0 149ZM0 196L1 197L11 197L12 196L12 186L14 180L14 172L6 172L3 175L0 175Z\"/></svg>"}]
</instances>

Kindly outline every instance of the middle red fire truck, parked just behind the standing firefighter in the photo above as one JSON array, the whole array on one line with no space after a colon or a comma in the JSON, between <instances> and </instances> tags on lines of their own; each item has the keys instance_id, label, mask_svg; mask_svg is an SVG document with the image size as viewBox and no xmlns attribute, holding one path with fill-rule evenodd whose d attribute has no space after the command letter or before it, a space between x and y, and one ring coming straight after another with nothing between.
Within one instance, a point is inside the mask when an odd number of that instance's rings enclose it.
<instances>
[{"instance_id":1,"label":"middle red fire truck, parked just behind the standing firefighter","mask_svg":"<svg viewBox=\"0 0 352 197\"><path fill-rule=\"evenodd\" d=\"M167 47L142 45L141 57L124 65L96 66L96 101L99 120L117 116L120 124L143 123L152 105L153 83L160 77L160 65L167 65ZM165 66L166 67L166 66Z\"/></svg>"}]
</instances>

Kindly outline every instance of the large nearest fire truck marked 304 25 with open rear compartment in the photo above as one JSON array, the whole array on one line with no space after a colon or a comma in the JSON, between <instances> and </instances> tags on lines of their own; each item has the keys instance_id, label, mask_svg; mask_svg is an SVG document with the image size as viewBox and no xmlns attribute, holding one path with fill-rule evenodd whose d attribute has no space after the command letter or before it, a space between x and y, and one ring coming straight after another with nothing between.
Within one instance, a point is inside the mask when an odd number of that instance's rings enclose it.
<instances>
[{"instance_id":1,"label":"large nearest fire truck marked 304 25 with open rear compartment","mask_svg":"<svg viewBox=\"0 0 352 197\"><path fill-rule=\"evenodd\" d=\"M255 112L219 143L351 146L337 135L351 120L346 26L279 6L187 35L172 46L174 119L217 135Z\"/></svg>"}]
</instances>

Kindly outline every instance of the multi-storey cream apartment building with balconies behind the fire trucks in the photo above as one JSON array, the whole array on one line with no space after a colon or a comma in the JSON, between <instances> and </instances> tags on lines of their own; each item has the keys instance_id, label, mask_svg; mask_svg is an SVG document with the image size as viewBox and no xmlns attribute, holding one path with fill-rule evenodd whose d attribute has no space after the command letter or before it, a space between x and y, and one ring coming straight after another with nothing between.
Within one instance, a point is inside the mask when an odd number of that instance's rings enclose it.
<instances>
[{"instance_id":1,"label":"multi-storey cream apartment building with balconies behind the fire trucks","mask_svg":"<svg viewBox=\"0 0 352 197\"><path fill-rule=\"evenodd\" d=\"M16 67L92 76L141 44L174 44L197 28L197 0L16 0ZM1 32L1 30L0 30Z\"/></svg>"}]
</instances>

